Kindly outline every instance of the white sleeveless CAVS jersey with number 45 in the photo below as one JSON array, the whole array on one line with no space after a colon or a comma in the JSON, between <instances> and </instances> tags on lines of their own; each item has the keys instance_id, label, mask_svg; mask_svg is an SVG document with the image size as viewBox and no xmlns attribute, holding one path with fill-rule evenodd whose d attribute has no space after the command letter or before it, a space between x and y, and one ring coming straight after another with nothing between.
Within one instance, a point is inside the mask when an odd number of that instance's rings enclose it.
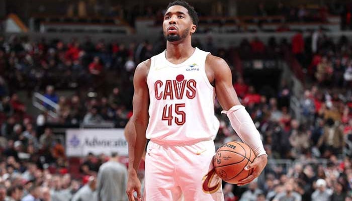
<instances>
[{"instance_id":1,"label":"white sleeveless CAVS jersey with number 45","mask_svg":"<svg viewBox=\"0 0 352 201\"><path fill-rule=\"evenodd\" d=\"M214 116L215 89L205 73L208 54L196 48L181 64L169 62L165 51L151 58L146 138L183 144L215 137L219 122Z\"/></svg>"}]
</instances>

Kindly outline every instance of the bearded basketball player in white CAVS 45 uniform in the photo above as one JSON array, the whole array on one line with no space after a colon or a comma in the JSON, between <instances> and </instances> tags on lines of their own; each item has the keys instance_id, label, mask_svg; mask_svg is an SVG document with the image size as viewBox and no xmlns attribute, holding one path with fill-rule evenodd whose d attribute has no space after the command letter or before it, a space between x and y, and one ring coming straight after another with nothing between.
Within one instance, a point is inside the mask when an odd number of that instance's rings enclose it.
<instances>
[{"instance_id":1,"label":"bearded basketball player in white CAVS 45 uniform","mask_svg":"<svg viewBox=\"0 0 352 201\"><path fill-rule=\"evenodd\" d=\"M136 68L131 120L136 135L128 136L129 200L141 200L137 169L146 139L143 200L224 200L212 167L215 94L233 129L257 156L246 167L253 173L239 185L252 181L267 164L260 134L232 86L229 66L191 46L197 25L193 7L170 3L162 25L166 50Z\"/></svg>"}]
</instances>

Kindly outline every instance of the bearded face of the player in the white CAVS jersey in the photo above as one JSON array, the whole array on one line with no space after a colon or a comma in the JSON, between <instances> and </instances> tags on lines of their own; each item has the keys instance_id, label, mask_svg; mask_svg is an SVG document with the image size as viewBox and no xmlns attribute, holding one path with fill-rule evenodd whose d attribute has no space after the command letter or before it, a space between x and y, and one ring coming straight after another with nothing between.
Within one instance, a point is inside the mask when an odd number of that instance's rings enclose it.
<instances>
[{"instance_id":1,"label":"bearded face of the player in the white CAVS jersey","mask_svg":"<svg viewBox=\"0 0 352 201\"><path fill-rule=\"evenodd\" d=\"M162 24L164 37L167 41L180 41L196 31L188 10L183 6L172 6L167 9Z\"/></svg>"}]
</instances>

